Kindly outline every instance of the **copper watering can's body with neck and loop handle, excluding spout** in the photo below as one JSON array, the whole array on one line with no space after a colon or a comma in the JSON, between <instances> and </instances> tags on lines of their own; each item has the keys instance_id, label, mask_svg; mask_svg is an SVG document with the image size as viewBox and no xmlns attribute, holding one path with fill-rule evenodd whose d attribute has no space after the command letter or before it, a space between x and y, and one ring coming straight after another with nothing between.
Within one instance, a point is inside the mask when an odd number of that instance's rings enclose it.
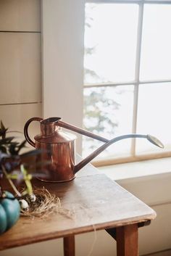
<instances>
[{"instance_id":1,"label":"copper watering can's body with neck and loop handle, excluding spout","mask_svg":"<svg viewBox=\"0 0 171 256\"><path fill-rule=\"evenodd\" d=\"M34 137L35 142L28 136L28 125L34 120L41 123L41 134ZM36 156L36 162L41 163L38 167L43 173L43 176L38 176L41 181L63 182L75 178L75 135L62 131L52 119L46 122L39 117L28 120L24 132L26 140L41 150Z\"/></svg>"}]
</instances>

